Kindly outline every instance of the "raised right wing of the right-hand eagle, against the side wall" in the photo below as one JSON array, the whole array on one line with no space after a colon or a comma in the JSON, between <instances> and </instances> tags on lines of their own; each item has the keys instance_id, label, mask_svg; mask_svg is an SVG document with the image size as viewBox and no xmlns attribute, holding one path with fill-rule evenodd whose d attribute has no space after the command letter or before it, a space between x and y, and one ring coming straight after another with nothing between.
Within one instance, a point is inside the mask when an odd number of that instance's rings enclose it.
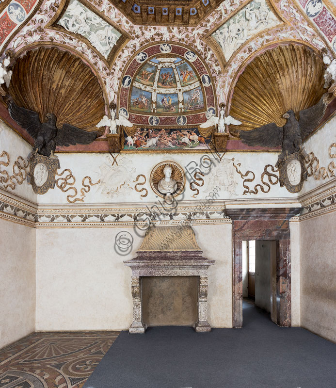
<instances>
[{"instance_id":1,"label":"raised right wing of the right-hand eagle, against the side wall","mask_svg":"<svg viewBox=\"0 0 336 388\"><path fill-rule=\"evenodd\" d=\"M329 93L324 93L317 104L299 112L301 139L304 139L306 136L308 136L309 133L318 126L328 106L328 95Z\"/></svg>"}]
</instances>

